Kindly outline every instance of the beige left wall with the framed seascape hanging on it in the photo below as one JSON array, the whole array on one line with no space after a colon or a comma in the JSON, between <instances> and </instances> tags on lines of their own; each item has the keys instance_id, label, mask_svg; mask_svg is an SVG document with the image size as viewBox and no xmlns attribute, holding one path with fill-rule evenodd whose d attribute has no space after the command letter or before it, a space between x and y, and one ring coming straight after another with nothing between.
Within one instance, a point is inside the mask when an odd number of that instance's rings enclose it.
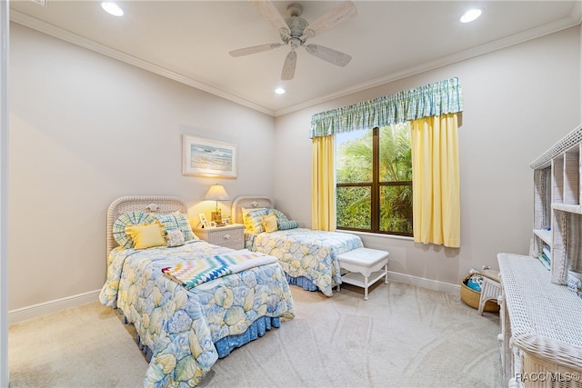
<instances>
[{"instance_id":1,"label":"beige left wall with the framed seascape hanging on it","mask_svg":"<svg viewBox=\"0 0 582 388\"><path fill-rule=\"evenodd\" d=\"M196 215L216 182L232 197L274 194L273 117L10 27L10 310L101 288L119 196L178 195ZM237 144L238 178L183 176L182 134Z\"/></svg>"}]
</instances>

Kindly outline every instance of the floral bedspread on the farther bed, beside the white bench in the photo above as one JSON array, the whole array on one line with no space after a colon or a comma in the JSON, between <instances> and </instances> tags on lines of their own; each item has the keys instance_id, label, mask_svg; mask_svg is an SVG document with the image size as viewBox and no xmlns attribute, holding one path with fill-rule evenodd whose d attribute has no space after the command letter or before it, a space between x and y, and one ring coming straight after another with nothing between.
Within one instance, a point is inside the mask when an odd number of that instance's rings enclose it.
<instances>
[{"instance_id":1,"label":"floral bedspread on the farther bed, beside the white bench","mask_svg":"<svg viewBox=\"0 0 582 388\"><path fill-rule=\"evenodd\" d=\"M247 248L275 256L287 275L304 276L326 296L341 284L337 255L364 246L354 234L306 228L249 235Z\"/></svg>"}]
</instances>

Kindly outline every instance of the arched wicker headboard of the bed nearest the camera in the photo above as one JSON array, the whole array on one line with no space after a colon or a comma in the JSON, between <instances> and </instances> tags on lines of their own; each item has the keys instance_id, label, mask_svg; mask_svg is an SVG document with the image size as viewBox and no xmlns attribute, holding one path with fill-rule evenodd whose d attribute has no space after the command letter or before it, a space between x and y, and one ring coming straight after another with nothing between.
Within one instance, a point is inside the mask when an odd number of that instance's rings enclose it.
<instances>
[{"instance_id":1,"label":"arched wicker headboard of the bed nearest the camera","mask_svg":"<svg viewBox=\"0 0 582 388\"><path fill-rule=\"evenodd\" d=\"M113 237L113 224L120 215L136 210L143 210L147 213L180 212L187 215L188 205L186 201L177 196L144 195L117 198L107 209L107 255L117 246Z\"/></svg>"}]
</instances>

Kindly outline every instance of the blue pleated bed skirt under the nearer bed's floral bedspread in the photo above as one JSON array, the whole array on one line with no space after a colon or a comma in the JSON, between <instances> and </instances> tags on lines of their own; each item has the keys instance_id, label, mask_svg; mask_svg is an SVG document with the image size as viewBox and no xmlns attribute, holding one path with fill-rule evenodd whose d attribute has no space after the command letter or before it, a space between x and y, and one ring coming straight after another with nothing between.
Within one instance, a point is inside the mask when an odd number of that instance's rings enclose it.
<instances>
[{"instance_id":1,"label":"blue pleated bed skirt under the nearer bed's floral bedspread","mask_svg":"<svg viewBox=\"0 0 582 388\"><path fill-rule=\"evenodd\" d=\"M122 322L124 324L131 324L133 326L133 323L128 322L125 318L125 313L121 311L121 309L117 310L121 314ZM257 318L256 321L252 323L248 329L246 329L245 333L229 335L225 338L221 338L215 343L218 358L225 358L234 349L241 347L246 343L250 343L251 341L256 340L258 337L262 337L265 335L266 331L271 330L272 327L281 327L281 318L278 316L262 316ZM135 333L134 340L135 343L137 343L139 350L141 350L142 353L146 355L146 360L149 363L154 353L149 348L149 346L146 346L144 343L142 343L139 334Z\"/></svg>"}]
</instances>

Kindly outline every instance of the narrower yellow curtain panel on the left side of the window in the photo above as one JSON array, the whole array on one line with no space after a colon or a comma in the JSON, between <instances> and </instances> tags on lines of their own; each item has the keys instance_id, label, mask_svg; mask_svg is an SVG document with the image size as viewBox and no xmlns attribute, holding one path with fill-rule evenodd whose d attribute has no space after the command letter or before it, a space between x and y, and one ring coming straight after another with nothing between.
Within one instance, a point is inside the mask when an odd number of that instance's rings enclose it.
<instances>
[{"instance_id":1,"label":"narrower yellow curtain panel on the left side of the window","mask_svg":"<svg viewBox=\"0 0 582 388\"><path fill-rule=\"evenodd\" d=\"M335 136L313 138L311 159L311 227L336 230Z\"/></svg>"}]
</instances>

